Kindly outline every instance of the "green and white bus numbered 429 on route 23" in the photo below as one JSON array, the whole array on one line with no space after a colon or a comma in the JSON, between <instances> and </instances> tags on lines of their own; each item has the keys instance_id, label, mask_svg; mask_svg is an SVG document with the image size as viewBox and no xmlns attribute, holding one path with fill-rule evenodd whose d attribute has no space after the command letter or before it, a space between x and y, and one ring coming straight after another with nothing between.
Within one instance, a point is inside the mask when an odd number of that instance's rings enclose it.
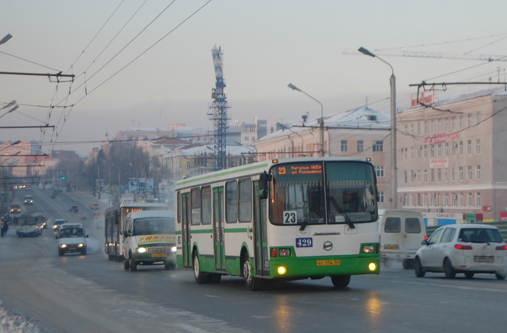
<instances>
[{"instance_id":1,"label":"green and white bus numbered 429 on route 23","mask_svg":"<svg viewBox=\"0 0 507 333\"><path fill-rule=\"evenodd\" d=\"M176 184L176 259L197 283L379 274L377 188L367 158L273 159Z\"/></svg>"}]
</instances>

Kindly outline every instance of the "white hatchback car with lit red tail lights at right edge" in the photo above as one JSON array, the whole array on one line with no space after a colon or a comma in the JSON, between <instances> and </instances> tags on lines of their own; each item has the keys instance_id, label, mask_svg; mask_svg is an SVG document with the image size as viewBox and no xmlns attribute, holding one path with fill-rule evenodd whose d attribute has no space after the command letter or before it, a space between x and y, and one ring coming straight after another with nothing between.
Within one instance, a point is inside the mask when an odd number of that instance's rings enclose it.
<instances>
[{"instance_id":1,"label":"white hatchback car with lit red tail lights at right edge","mask_svg":"<svg viewBox=\"0 0 507 333\"><path fill-rule=\"evenodd\" d=\"M415 275L444 272L452 279L456 273L472 278L475 273L507 276L507 244L498 228L487 224L445 225L423 240L415 256Z\"/></svg>"}]
</instances>

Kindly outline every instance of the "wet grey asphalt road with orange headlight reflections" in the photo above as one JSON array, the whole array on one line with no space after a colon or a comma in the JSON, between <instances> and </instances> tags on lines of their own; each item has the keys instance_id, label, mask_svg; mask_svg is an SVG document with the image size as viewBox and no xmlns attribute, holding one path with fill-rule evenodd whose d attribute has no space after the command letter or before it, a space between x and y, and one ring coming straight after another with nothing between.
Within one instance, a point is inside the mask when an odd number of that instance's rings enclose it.
<instances>
[{"instance_id":1,"label":"wet grey asphalt road with orange headlight reflections","mask_svg":"<svg viewBox=\"0 0 507 333\"><path fill-rule=\"evenodd\" d=\"M103 253L101 226L88 210L94 199L50 194L34 190L33 209L50 221L75 221L68 209L80 205L88 215L88 255L59 257L51 222L39 237L18 238L11 229L0 239L0 299L41 332L500 332L507 325L507 282L489 274L416 278L393 265L380 275L353 276L344 289L324 278L248 292L238 277L198 285L191 271L125 271Z\"/></svg>"}]
</instances>

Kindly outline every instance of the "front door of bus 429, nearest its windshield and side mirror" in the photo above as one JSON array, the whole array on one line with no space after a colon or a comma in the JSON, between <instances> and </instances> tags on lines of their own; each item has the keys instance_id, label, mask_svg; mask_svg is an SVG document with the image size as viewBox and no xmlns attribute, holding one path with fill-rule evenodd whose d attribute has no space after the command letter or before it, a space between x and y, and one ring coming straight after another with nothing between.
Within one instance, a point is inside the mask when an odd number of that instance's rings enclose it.
<instances>
[{"instance_id":1,"label":"front door of bus 429, nearest its windshield and side mirror","mask_svg":"<svg viewBox=\"0 0 507 333\"><path fill-rule=\"evenodd\" d=\"M256 275L269 276L268 237L266 235L266 199L259 199L259 182L253 183L253 241Z\"/></svg>"}]
</instances>

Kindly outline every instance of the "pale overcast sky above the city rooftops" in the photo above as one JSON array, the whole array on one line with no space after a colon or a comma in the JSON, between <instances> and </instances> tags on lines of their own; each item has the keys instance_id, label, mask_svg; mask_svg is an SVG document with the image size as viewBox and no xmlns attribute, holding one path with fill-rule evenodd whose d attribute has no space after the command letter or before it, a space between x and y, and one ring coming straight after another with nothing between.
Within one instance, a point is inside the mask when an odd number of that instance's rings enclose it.
<instances>
[{"instance_id":1,"label":"pale overcast sky above the city rooftops","mask_svg":"<svg viewBox=\"0 0 507 333\"><path fill-rule=\"evenodd\" d=\"M42 140L45 152L71 149L86 155L99 145L89 141L126 128L165 129L184 122L211 129L206 112L215 84L215 44L224 53L229 115L240 122L251 122L256 114L275 115L284 123L299 121L306 112L310 119L320 116L318 103L287 88L289 82L319 100L324 114L362 106L367 98L370 107L388 112L390 68L365 55L342 54L345 49L507 55L504 0L143 3L4 1L0 38L13 37L0 45L0 71L62 71L76 77L58 83L47 76L0 75L0 107L12 100L20 105L0 119L0 126L56 127L46 133L2 129L0 140ZM491 37L479 38L486 36ZM503 81L507 65L382 58L394 68L397 103L403 106L417 92L409 84ZM47 144L51 141L56 145Z\"/></svg>"}]
</instances>

